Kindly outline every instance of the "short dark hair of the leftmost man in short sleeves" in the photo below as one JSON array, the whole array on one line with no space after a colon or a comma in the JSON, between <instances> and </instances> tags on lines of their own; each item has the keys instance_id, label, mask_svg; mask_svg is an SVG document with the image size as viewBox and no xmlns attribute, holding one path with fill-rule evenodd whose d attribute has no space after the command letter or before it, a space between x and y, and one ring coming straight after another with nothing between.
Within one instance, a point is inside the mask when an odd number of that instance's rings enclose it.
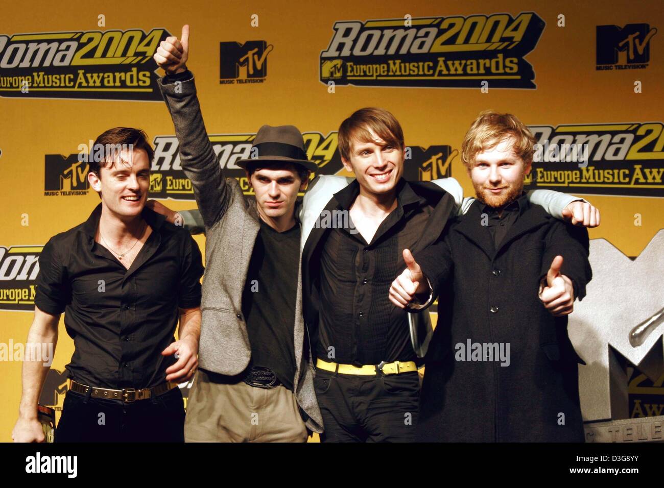
<instances>
[{"instance_id":1,"label":"short dark hair of the leftmost man in short sleeves","mask_svg":"<svg viewBox=\"0 0 664 488\"><path fill-rule=\"evenodd\" d=\"M114 165L116 154L120 153L123 146L128 145L131 145L132 149L145 150L148 161L152 163L155 152L147 141L147 134L144 131L132 127L114 127L99 135L95 139L94 145L90 147L88 157L90 169L88 171L101 178L100 171L102 167L106 167L106 163L109 162ZM102 151L103 157L98 157L100 151Z\"/></svg>"}]
</instances>

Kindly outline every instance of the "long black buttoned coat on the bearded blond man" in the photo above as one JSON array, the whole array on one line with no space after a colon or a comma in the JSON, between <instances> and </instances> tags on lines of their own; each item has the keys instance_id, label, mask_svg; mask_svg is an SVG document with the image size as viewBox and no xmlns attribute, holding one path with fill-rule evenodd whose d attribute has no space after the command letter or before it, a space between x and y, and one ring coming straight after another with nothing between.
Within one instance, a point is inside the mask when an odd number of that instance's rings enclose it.
<instances>
[{"instance_id":1,"label":"long black buttoned coat on the bearded blond man","mask_svg":"<svg viewBox=\"0 0 664 488\"><path fill-rule=\"evenodd\" d=\"M561 273L574 282L576 297L584 297L592 276L588 231L527 203L494 250L481 211L476 201L450 223L444 240L414 254L440 292L417 440L582 442L578 362L584 363L568 337L567 317L550 315L538 292L560 254ZM456 345L468 339L509 343L509 365L458 361Z\"/></svg>"}]
</instances>

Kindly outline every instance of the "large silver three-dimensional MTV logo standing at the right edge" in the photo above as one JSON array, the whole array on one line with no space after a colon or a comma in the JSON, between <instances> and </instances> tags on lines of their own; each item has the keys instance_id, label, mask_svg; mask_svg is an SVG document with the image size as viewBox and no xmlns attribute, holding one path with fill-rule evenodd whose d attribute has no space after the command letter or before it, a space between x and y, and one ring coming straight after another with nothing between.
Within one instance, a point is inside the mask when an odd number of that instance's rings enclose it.
<instances>
[{"instance_id":1,"label":"large silver three-dimensional MTV logo standing at the right edge","mask_svg":"<svg viewBox=\"0 0 664 488\"><path fill-rule=\"evenodd\" d=\"M633 261L593 239L590 266L588 294L574 304L568 325L586 361L579 366L581 411L585 422L627 418L627 361L653 380L664 372L664 229Z\"/></svg>"}]
</instances>

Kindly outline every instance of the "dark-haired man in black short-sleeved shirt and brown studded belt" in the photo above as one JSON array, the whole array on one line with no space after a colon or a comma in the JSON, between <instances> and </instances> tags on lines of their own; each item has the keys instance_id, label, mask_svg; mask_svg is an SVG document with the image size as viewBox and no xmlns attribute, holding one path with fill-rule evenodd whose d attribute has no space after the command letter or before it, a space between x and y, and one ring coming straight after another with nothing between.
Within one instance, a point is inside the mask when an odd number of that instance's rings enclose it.
<instances>
[{"instance_id":1,"label":"dark-haired man in black short-sleeved shirt and brown studded belt","mask_svg":"<svg viewBox=\"0 0 664 488\"><path fill-rule=\"evenodd\" d=\"M74 339L55 442L183 442L177 384L197 367L201 252L145 208L152 150L143 131L110 129L94 148L88 181L102 203L44 246L28 334L28 343L54 347L64 311ZM39 361L23 363L16 442L44 441L37 402L47 372Z\"/></svg>"}]
</instances>

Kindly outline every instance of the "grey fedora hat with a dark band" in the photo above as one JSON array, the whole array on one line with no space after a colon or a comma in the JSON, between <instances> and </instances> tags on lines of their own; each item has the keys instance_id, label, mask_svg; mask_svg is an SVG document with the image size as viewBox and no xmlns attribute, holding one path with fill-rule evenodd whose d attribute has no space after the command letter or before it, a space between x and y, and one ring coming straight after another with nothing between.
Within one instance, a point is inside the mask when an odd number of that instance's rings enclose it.
<instances>
[{"instance_id":1,"label":"grey fedora hat with a dark band","mask_svg":"<svg viewBox=\"0 0 664 488\"><path fill-rule=\"evenodd\" d=\"M318 171L318 165L307 160L302 133L295 125L260 127L254 137L251 155L249 159L240 159L236 165L246 169L248 164L258 161L283 161L303 166L310 171Z\"/></svg>"}]
</instances>

